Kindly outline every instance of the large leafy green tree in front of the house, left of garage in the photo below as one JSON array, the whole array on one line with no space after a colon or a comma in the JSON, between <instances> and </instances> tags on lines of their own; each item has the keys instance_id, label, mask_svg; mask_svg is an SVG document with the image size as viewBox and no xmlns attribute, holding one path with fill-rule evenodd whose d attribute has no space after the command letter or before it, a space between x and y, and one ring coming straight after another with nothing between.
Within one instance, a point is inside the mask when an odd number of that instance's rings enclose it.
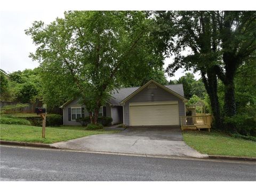
<instances>
[{"instance_id":1,"label":"large leafy green tree in front of the house, left of garage","mask_svg":"<svg viewBox=\"0 0 256 192\"><path fill-rule=\"evenodd\" d=\"M79 95L96 124L111 91L145 78L152 69L162 69L153 28L141 11L69 11L50 25L35 21L26 34L37 45L30 57L48 76L44 85L54 78L59 91Z\"/></svg>"}]
</instances>

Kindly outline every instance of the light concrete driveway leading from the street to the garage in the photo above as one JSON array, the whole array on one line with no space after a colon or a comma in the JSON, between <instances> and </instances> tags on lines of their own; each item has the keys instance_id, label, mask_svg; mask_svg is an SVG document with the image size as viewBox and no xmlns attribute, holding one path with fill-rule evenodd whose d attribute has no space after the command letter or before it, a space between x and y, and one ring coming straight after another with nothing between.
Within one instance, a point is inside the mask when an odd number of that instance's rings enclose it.
<instances>
[{"instance_id":1,"label":"light concrete driveway leading from the street to the garage","mask_svg":"<svg viewBox=\"0 0 256 192\"><path fill-rule=\"evenodd\" d=\"M82 151L145 156L207 157L183 142L179 126L128 127L117 134L91 135L53 143L52 146Z\"/></svg>"}]
</instances>

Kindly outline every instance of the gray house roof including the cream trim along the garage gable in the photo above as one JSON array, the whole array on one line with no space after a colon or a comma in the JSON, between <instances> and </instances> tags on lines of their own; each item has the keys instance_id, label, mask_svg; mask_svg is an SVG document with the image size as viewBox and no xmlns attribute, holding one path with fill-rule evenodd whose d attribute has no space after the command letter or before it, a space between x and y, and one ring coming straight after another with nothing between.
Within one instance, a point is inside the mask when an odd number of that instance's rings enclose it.
<instances>
[{"instance_id":1,"label":"gray house roof including the cream trim along the garage gable","mask_svg":"<svg viewBox=\"0 0 256 192\"><path fill-rule=\"evenodd\" d=\"M121 103L125 102L125 100L130 99L135 94L137 94L140 90L144 89L147 85L150 83L155 83L157 86L162 87L164 90L174 94L175 96L179 97L183 101L187 101L187 99L184 97L184 91L183 91L183 85L182 84L175 84L175 85L161 85L153 80L150 80L145 85L141 87L128 87L128 88L121 88L116 89L112 91L111 98L109 99L110 105L120 105ZM67 101L64 103L60 108L65 107L70 103L72 100Z\"/></svg>"}]
</instances>

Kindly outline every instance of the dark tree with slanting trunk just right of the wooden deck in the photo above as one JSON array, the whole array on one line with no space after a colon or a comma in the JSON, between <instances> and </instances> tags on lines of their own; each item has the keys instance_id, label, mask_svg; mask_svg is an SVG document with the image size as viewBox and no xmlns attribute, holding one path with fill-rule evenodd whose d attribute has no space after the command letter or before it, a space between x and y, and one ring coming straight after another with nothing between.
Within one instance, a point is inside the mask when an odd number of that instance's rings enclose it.
<instances>
[{"instance_id":1,"label":"dark tree with slanting trunk just right of the wooden deck","mask_svg":"<svg viewBox=\"0 0 256 192\"><path fill-rule=\"evenodd\" d=\"M172 76L179 68L201 72L202 81L209 94L215 125L221 129L217 73L214 69L219 61L217 31L215 31L217 21L212 13L209 11L156 12L156 18L176 30L174 34L173 31L171 33L163 31L170 40L166 49L175 54L174 62L166 69L167 73ZM182 54L183 50L187 50L188 54Z\"/></svg>"}]
</instances>

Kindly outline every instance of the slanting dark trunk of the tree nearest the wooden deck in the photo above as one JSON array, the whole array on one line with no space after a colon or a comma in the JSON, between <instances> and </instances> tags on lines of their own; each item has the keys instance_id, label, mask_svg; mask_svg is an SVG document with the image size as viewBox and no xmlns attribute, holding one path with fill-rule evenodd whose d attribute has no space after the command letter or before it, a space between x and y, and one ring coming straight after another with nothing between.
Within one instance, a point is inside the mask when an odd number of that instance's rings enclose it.
<instances>
[{"instance_id":1,"label":"slanting dark trunk of the tree nearest the wooden deck","mask_svg":"<svg viewBox=\"0 0 256 192\"><path fill-rule=\"evenodd\" d=\"M212 108L212 114L214 117L215 127L217 129L223 129L222 119L220 117L219 98L217 94L217 75L214 73L214 71L210 70L210 72L208 71L206 78L205 73L202 72L202 79L205 85L206 92L210 98L210 104Z\"/></svg>"}]
</instances>

